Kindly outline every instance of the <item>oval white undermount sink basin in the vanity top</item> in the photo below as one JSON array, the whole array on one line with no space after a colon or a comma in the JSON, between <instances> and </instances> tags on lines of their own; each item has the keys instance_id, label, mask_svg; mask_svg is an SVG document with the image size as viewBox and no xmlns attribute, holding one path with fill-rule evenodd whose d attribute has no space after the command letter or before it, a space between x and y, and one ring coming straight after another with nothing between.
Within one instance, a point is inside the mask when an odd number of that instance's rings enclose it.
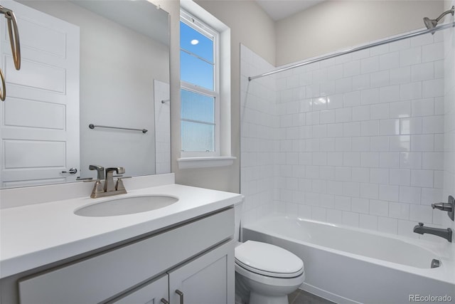
<instances>
[{"instance_id":1,"label":"oval white undermount sink basin in the vanity top","mask_svg":"<svg viewBox=\"0 0 455 304\"><path fill-rule=\"evenodd\" d=\"M132 196L122 199L109 199L97 204L76 209L79 216L117 216L137 214L141 212L164 208L178 201L176 197L166 195Z\"/></svg>"}]
</instances>

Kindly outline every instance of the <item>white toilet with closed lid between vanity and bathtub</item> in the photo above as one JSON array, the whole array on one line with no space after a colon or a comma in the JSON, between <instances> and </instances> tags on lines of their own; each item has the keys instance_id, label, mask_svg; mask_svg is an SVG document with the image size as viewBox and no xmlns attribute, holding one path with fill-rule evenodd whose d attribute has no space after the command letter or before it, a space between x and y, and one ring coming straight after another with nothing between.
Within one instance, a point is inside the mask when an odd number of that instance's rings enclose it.
<instances>
[{"instance_id":1,"label":"white toilet with closed lid between vanity and bathtub","mask_svg":"<svg viewBox=\"0 0 455 304\"><path fill-rule=\"evenodd\" d=\"M235 206L235 238L240 236L242 204ZM235 247L236 303L288 304L287 295L304 283L304 262L284 248L246 241ZM248 297L249 295L249 297ZM248 302L249 298L249 302Z\"/></svg>"}]
</instances>

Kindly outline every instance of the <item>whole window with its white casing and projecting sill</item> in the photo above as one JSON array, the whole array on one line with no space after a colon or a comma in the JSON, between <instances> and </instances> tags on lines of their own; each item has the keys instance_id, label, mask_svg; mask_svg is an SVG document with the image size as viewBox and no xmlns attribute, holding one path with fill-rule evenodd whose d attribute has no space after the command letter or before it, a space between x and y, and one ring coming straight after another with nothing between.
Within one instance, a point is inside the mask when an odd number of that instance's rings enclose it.
<instances>
[{"instance_id":1,"label":"whole window with its white casing and projecting sill","mask_svg":"<svg viewBox=\"0 0 455 304\"><path fill-rule=\"evenodd\" d=\"M230 28L194 1L181 5L179 169L222 167L231 156Z\"/></svg>"}]
</instances>

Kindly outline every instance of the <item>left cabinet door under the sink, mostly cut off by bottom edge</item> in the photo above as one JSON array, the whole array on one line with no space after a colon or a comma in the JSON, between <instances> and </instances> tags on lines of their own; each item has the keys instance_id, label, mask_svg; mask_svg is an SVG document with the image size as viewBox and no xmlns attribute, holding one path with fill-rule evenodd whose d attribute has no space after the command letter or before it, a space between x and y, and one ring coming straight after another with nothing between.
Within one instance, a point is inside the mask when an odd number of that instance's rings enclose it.
<instances>
[{"instance_id":1,"label":"left cabinet door under the sink, mostly cut off by bottom edge","mask_svg":"<svg viewBox=\"0 0 455 304\"><path fill-rule=\"evenodd\" d=\"M168 276L164 275L119 300L116 304L159 304L168 303ZM164 299L164 300L161 300Z\"/></svg>"}]
</instances>

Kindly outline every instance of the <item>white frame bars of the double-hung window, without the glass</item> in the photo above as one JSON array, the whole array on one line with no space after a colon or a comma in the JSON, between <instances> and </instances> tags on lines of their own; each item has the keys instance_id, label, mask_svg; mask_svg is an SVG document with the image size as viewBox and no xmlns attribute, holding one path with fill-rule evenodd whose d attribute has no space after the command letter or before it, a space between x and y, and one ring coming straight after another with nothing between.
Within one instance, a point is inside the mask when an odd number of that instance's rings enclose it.
<instances>
[{"instance_id":1,"label":"white frame bars of the double-hung window, without the glass","mask_svg":"<svg viewBox=\"0 0 455 304\"><path fill-rule=\"evenodd\" d=\"M202 88L198 85L193 85L192 83L187 83L186 81L181 80L181 89L189 90L194 93L201 95L207 95L215 98L215 151L181 151L181 157L219 157L220 156L220 33L215 31L212 27L205 24L203 21L200 21L195 16L189 14L187 11L181 9L180 11L180 21L186 23L186 25L191 26L196 31L199 31L204 36L208 38L213 38L213 91L206 88ZM182 48L181 48L182 51ZM197 57L197 56L196 56ZM203 60L202 58L200 58ZM182 121L191 121L191 120L182 120ZM182 136L182 135L181 135Z\"/></svg>"}]
</instances>

